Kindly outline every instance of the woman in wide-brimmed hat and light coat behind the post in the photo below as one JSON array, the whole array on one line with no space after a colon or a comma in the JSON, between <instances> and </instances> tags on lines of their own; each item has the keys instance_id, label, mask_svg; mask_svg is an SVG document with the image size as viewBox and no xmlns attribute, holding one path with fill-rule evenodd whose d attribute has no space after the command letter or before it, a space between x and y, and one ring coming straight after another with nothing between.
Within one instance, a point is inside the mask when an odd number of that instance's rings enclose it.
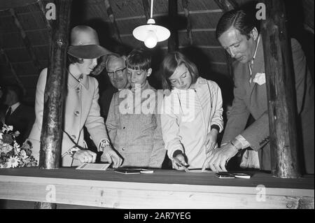
<instances>
[{"instance_id":1,"label":"woman in wide-brimmed hat and light coat behind the post","mask_svg":"<svg viewBox=\"0 0 315 223\"><path fill-rule=\"evenodd\" d=\"M120 156L111 148L106 133L104 119L99 112L99 88L95 78L89 76L97 66L97 58L111 52L99 45L97 32L91 27L77 26L71 30L71 45L68 49L68 85L64 109L64 134L62 138L62 166L78 166L83 162L94 162L96 154L84 150L83 127L87 128L92 141L103 157L113 162L113 167L122 163ZM36 121L29 141L38 159L40 150L41 126L43 121L43 100L47 69L39 75L36 86ZM102 157L102 158L103 158ZM104 160L104 159L102 159Z\"/></svg>"}]
</instances>

